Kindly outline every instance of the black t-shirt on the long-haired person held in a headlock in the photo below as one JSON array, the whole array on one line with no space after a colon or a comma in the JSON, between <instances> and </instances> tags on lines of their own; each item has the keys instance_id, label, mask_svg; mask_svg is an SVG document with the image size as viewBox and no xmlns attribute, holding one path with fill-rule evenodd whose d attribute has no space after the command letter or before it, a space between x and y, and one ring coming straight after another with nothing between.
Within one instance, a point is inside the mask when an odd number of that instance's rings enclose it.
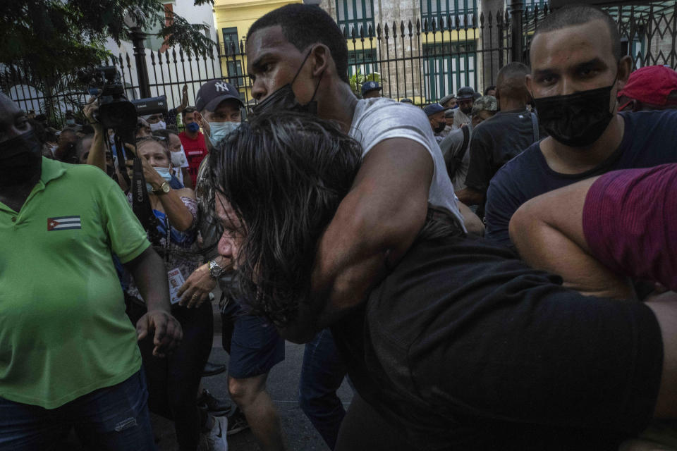
<instances>
[{"instance_id":1,"label":"black t-shirt on the long-haired person held in a headlock","mask_svg":"<svg viewBox=\"0 0 677 451\"><path fill-rule=\"evenodd\" d=\"M483 240L417 242L334 336L415 449L613 449L652 419L660 329L560 284Z\"/></svg>"}]
</instances>

